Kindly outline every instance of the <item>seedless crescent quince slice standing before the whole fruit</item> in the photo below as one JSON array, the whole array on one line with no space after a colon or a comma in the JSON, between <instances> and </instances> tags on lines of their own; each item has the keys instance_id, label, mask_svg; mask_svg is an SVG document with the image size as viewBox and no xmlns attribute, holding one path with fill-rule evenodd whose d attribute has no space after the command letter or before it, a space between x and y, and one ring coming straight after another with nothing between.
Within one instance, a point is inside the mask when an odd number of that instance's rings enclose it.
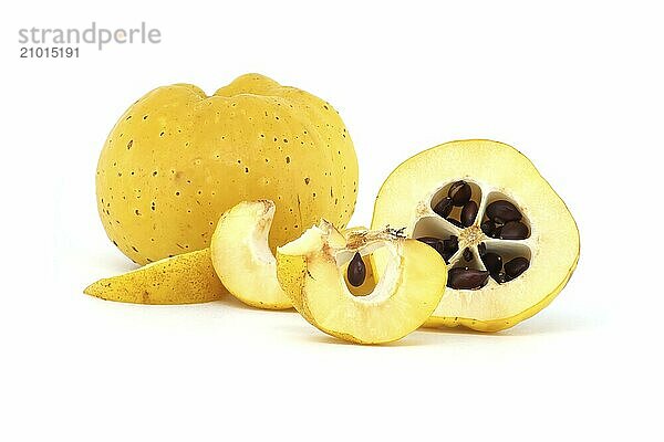
<instances>
[{"instance_id":1,"label":"seedless crescent quince slice standing before the whole fruit","mask_svg":"<svg viewBox=\"0 0 664 442\"><path fill-rule=\"evenodd\" d=\"M224 285L253 307L292 308L277 281L277 261L268 245L274 203L242 201L226 211L210 243L212 265Z\"/></svg>"}]
</instances>

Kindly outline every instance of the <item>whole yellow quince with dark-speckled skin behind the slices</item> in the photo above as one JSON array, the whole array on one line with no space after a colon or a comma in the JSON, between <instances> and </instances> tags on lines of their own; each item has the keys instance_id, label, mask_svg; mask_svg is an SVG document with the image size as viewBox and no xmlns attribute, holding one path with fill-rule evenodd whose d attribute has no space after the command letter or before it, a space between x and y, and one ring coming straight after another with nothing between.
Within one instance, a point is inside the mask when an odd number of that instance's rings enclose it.
<instances>
[{"instance_id":1,"label":"whole yellow quince with dark-speckled skin behind the slices","mask_svg":"<svg viewBox=\"0 0 664 442\"><path fill-rule=\"evenodd\" d=\"M242 200L277 203L272 250L320 218L344 227L356 189L336 110L259 74L212 96L188 84L149 92L111 130L96 171L106 233L139 264L207 248L221 213Z\"/></svg>"}]
</instances>

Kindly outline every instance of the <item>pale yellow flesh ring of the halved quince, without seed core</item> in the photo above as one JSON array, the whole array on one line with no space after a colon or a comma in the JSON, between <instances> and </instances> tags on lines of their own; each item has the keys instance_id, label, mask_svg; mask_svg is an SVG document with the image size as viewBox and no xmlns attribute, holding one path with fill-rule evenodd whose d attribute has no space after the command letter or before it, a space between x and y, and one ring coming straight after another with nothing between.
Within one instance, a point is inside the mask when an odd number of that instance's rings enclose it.
<instances>
[{"instance_id":1,"label":"pale yellow flesh ring of the halved quince, without seed core","mask_svg":"<svg viewBox=\"0 0 664 442\"><path fill-rule=\"evenodd\" d=\"M391 224L405 227L412 234L422 215L435 215L428 207L433 193L460 179L483 183L519 202L531 222L531 235L525 242L533 254L530 267L509 283L491 283L479 291L447 288L427 324L486 332L508 328L553 299L579 256L579 232L572 215L519 151L501 143L465 140L416 155L395 169L381 188L372 229ZM376 261L378 269L384 266Z\"/></svg>"}]
</instances>

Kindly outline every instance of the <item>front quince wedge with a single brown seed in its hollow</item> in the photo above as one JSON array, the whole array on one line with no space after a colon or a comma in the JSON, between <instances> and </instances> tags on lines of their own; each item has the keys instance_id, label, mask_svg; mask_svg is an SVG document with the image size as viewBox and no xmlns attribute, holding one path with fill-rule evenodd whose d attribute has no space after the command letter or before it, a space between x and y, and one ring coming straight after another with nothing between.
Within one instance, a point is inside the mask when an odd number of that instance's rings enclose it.
<instances>
[{"instance_id":1,"label":"front quince wedge with a single brown seed in its hollow","mask_svg":"<svg viewBox=\"0 0 664 442\"><path fill-rule=\"evenodd\" d=\"M357 254L376 251L387 256L384 274L371 294L354 296L344 269ZM435 250L404 239L400 231L344 236L322 220L277 248L277 276L295 309L322 332L357 344L383 344L403 338L428 319L445 291L447 266Z\"/></svg>"}]
</instances>

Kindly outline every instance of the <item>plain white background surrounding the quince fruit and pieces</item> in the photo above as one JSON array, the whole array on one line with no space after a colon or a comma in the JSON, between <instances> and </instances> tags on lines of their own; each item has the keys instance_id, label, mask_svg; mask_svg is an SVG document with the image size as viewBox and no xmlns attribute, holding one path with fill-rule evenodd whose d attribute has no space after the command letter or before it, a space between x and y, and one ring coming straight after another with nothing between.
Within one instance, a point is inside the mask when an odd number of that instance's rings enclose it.
<instances>
[{"instance_id":1,"label":"plain white background surrounding the quince fruit and pieces","mask_svg":"<svg viewBox=\"0 0 664 442\"><path fill-rule=\"evenodd\" d=\"M21 1L2 12L1 440L662 439L657 2L359 3ZM19 28L92 20L146 21L163 42L19 60ZM382 347L230 298L83 295L132 269L94 198L115 119L158 85L211 93L246 72L341 112L361 166L353 224L370 223L384 178L419 150L516 146L579 223L570 284L510 330L423 330Z\"/></svg>"}]
</instances>

